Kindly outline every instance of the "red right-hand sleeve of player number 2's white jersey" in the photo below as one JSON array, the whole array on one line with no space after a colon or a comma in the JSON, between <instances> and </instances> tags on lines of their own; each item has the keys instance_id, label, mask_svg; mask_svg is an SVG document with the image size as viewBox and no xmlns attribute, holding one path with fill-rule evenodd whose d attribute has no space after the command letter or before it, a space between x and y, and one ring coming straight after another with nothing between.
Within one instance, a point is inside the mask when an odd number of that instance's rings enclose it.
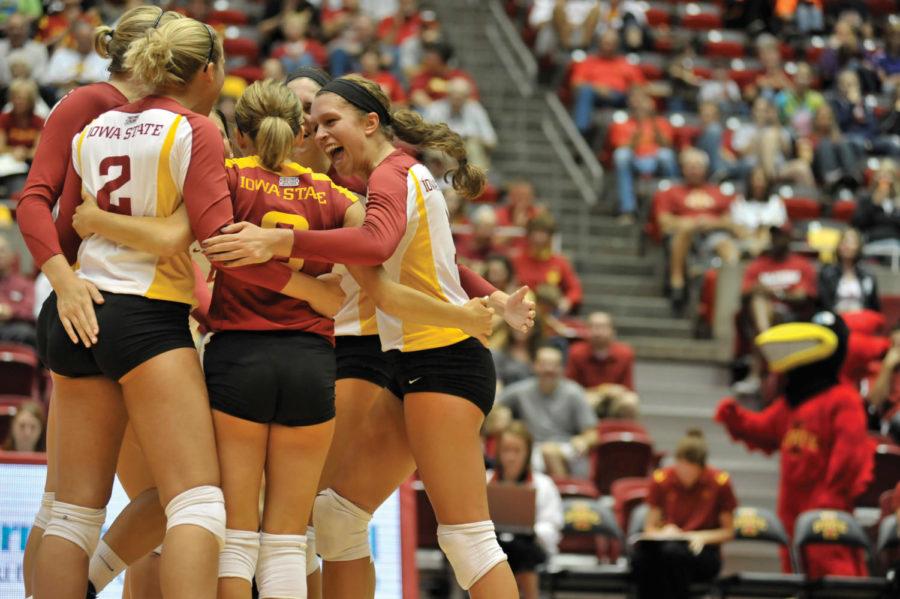
<instances>
[{"instance_id":1,"label":"red right-hand sleeve of player number 2's white jersey","mask_svg":"<svg viewBox=\"0 0 900 599\"><path fill-rule=\"evenodd\" d=\"M198 241L204 241L234 221L234 209L222 160L225 147L218 129L200 116L190 118L190 125L191 154L182 193L191 231ZM290 269L278 262L229 268L227 272L245 283L273 291L284 289L291 277Z\"/></svg>"}]
</instances>

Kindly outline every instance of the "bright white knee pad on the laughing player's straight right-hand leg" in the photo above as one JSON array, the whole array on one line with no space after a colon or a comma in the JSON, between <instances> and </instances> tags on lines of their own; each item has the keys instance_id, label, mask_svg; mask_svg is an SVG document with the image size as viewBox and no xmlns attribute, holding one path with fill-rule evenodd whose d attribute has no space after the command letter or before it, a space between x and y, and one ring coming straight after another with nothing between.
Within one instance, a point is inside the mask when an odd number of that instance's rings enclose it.
<instances>
[{"instance_id":1,"label":"bright white knee pad on the laughing player's straight right-hand leg","mask_svg":"<svg viewBox=\"0 0 900 599\"><path fill-rule=\"evenodd\" d=\"M491 568L506 561L490 520L468 524L438 525L438 545L453 567L456 582L464 590L478 582Z\"/></svg>"}]
</instances>

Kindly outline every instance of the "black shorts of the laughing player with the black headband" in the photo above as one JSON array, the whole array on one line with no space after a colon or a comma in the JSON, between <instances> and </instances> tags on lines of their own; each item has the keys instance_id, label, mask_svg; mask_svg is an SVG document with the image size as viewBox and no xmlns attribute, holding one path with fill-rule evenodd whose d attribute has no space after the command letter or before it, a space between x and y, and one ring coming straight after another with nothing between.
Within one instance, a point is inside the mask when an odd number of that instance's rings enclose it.
<instances>
[{"instance_id":1,"label":"black shorts of the laughing player with the black headband","mask_svg":"<svg viewBox=\"0 0 900 599\"><path fill-rule=\"evenodd\" d=\"M446 393L491 411L497 391L497 373L491 352L477 339L447 347L397 354L395 384L402 398L408 393Z\"/></svg>"}]
</instances>

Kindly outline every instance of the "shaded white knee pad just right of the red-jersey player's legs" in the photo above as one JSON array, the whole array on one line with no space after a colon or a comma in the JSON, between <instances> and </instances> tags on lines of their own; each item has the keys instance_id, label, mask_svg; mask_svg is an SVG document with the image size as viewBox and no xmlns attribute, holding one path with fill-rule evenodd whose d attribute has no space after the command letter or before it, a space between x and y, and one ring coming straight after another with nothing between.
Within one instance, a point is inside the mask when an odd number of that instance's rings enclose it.
<instances>
[{"instance_id":1,"label":"shaded white knee pad just right of the red-jersey player's legs","mask_svg":"<svg viewBox=\"0 0 900 599\"><path fill-rule=\"evenodd\" d=\"M331 489L316 497L313 523L318 532L318 550L326 562L349 562L371 555L369 521L372 514L347 501Z\"/></svg>"}]
</instances>

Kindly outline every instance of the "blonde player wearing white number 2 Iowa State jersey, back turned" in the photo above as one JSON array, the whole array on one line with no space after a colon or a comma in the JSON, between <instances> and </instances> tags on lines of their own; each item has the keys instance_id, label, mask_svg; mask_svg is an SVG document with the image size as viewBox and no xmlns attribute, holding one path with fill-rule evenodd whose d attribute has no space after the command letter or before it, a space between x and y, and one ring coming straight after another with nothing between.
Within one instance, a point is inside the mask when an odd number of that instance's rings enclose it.
<instances>
[{"instance_id":1,"label":"blonde player wearing white number 2 Iowa State jersey, back turned","mask_svg":"<svg viewBox=\"0 0 900 599\"><path fill-rule=\"evenodd\" d=\"M165 96L98 117L75 140L69 174L77 171L75 180L97 194L101 207L124 213L171 214L183 198L201 239L230 222L222 142L215 126L196 114L212 108L224 79L222 58L212 30L189 19L167 22L133 42L125 68ZM67 186L64 194L77 195L80 186ZM90 339L90 348L76 346L71 326L52 314L56 297L44 306L43 357L55 378L68 379L72 393L56 398L57 501L39 551L35 594L83 594L83 561L97 543L127 415L166 505L163 591L212 597L224 506L205 388L187 329L190 259L186 252L159 259L92 237L82 244L79 263L81 278L105 292L92 328L95 335L98 328L104 332ZM324 285L277 264L232 272L300 297ZM124 406L102 393L100 375L122 385Z\"/></svg>"}]
</instances>

